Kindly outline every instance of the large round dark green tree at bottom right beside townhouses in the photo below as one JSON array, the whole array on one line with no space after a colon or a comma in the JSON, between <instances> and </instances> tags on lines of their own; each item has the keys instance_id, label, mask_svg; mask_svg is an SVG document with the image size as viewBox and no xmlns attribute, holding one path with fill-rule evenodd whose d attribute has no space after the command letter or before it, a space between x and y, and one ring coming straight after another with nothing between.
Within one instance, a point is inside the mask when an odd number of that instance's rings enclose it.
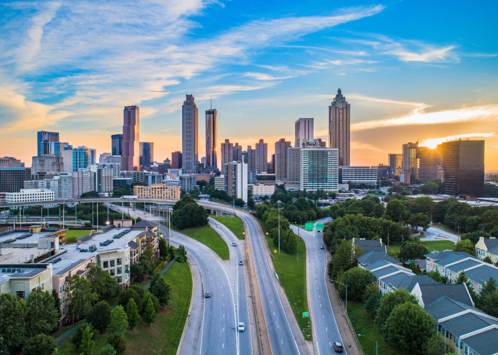
<instances>
[{"instance_id":1,"label":"large round dark green tree at bottom right beside townhouses","mask_svg":"<svg viewBox=\"0 0 498 355\"><path fill-rule=\"evenodd\" d=\"M385 321L382 335L387 345L398 353L422 355L422 345L434 335L435 325L422 307L405 302L393 308Z\"/></svg>"}]
</instances>

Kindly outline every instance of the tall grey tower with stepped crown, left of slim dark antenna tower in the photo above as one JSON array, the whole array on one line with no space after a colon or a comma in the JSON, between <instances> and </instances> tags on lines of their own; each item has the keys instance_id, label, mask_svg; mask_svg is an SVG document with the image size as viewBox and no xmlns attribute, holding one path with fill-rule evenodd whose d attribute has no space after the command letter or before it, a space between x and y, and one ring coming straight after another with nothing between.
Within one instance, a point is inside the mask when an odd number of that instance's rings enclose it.
<instances>
[{"instance_id":1,"label":"tall grey tower with stepped crown, left of slim dark antenna tower","mask_svg":"<svg viewBox=\"0 0 498 355\"><path fill-rule=\"evenodd\" d=\"M193 95L187 95L182 105L182 169L195 174L199 164L199 111Z\"/></svg>"}]
</instances>

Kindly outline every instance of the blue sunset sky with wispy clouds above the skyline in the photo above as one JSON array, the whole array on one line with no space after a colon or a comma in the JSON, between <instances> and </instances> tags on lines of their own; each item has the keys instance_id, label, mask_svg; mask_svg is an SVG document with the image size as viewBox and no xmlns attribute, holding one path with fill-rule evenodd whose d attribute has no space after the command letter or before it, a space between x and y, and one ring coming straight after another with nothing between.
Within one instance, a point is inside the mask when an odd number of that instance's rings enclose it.
<instances>
[{"instance_id":1,"label":"blue sunset sky with wispy clouds above the skyline","mask_svg":"<svg viewBox=\"0 0 498 355\"><path fill-rule=\"evenodd\" d=\"M181 150L181 105L218 111L218 149L294 144L313 117L327 139L338 88L351 104L351 165L403 143L484 139L498 170L498 2L100 0L0 3L0 156L31 165L36 131L111 151L140 107L154 159ZM218 157L221 160L221 157ZM269 160L269 159L268 159Z\"/></svg>"}]
</instances>

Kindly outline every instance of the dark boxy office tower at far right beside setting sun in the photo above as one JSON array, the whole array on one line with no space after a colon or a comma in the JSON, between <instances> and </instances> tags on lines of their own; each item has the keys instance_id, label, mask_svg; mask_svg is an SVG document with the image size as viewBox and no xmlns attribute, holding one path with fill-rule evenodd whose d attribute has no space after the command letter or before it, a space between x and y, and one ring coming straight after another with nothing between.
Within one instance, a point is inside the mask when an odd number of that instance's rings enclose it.
<instances>
[{"instance_id":1,"label":"dark boxy office tower at far right beside setting sun","mask_svg":"<svg viewBox=\"0 0 498 355\"><path fill-rule=\"evenodd\" d=\"M460 197L484 197L484 140L443 142L444 187Z\"/></svg>"}]
</instances>

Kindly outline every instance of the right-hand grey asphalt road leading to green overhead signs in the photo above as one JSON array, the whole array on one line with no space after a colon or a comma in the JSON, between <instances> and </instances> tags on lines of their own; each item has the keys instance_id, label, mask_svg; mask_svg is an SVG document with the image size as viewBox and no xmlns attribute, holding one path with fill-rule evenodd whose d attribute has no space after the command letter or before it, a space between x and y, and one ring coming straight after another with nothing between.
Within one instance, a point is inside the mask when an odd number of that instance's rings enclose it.
<instances>
[{"instance_id":1,"label":"right-hand grey asphalt road leading to green overhead signs","mask_svg":"<svg viewBox=\"0 0 498 355\"><path fill-rule=\"evenodd\" d=\"M324 218L317 223L331 221L330 217ZM325 249L320 249L323 244L322 232L314 230L304 231L296 226L291 226L294 233L298 234L306 242L307 249L307 274L308 274L308 305L313 325L313 348L315 354L333 354L334 342L341 342L341 335L333 316L332 305L327 292L327 255ZM347 354L348 346L345 344L344 354Z\"/></svg>"}]
</instances>

